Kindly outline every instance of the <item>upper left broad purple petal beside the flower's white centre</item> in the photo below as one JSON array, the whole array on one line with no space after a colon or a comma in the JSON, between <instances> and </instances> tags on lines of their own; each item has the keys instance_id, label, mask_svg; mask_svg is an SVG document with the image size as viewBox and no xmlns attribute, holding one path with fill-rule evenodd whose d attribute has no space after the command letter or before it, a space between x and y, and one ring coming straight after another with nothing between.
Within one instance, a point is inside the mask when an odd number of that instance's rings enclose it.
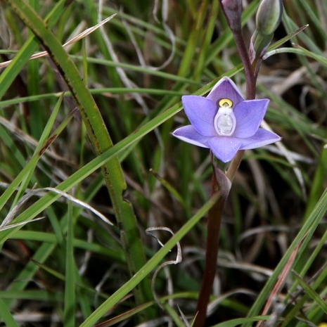
<instances>
[{"instance_id":1,"label":"upper left broad purple petal beside the flower's white centre","mask_svg":"<svg viewBox=\"0 0 327 327\"><path fill-rule=\"evenodd\" d=\"M217 105L202 96L182 96L184 110L196 132L203 136L216 136L214 129L214 116Z\"/></svg>"}]
</instances>

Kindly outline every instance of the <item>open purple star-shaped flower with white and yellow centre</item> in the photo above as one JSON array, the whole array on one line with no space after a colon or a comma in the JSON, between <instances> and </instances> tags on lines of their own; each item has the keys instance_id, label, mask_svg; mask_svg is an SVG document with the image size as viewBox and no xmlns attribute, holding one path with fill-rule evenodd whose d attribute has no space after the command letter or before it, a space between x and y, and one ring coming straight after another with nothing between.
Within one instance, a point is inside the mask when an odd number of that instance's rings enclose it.
<instances>
[{"instance_id":1,"label":"open purple star-shaped flower with white and yellow centre","mask_svg":"<svg viewBox=\"0 0 327 327\"><path fill-rule=\"evenodd\" d=\"M229 77L223 77L206 98L182 96L191 125L172 135L182 141L210 148L222 162L229 162L238 150L259 148L281 140L277 134L259 128L268 99L244 100Z\"/></svg>"}]
</instances>

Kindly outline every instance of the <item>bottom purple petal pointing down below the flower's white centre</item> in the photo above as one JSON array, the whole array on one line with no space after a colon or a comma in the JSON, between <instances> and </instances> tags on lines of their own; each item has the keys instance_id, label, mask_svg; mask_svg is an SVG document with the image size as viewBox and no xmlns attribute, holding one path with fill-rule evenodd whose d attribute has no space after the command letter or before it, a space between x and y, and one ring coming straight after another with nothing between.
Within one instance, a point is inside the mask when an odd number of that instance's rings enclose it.
<instances>
[{"instance_id":1,"label":"bottom purple petal pointing down below the flower's white centre","mask_svg":"<svg viewBox=\"0 0 327 327\"><path fill-rule=\"evenodd\" d=\"M242 143L235 137L217 136L208 141L212 153L222 162L231 161Z\"/></svg>"}]
</instances>

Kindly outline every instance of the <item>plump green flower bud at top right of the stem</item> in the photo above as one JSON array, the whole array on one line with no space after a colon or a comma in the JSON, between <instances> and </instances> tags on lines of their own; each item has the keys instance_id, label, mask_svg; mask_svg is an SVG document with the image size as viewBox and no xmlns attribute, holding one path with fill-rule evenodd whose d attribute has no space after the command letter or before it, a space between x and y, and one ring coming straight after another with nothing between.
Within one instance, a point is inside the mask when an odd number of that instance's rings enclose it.
<instances>
[{"instance_id":1,"label":"plump green flower bud at top right of the stem","mask_svg":"<svg viewBox=\"0 0 327 327\"><path fill-rule=\"evenodd\" d=\"M262 0L256 15L257 32L271 35L281 23L283 0Z\"/></svg>"}]
</instances>

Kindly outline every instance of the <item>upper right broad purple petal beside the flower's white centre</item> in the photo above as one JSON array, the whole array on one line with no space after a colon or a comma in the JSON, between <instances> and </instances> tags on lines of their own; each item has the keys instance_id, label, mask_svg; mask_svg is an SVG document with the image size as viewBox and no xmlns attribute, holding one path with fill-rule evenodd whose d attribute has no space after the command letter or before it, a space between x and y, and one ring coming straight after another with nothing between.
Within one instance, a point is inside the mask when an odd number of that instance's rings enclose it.
<instances>
[{"instance_id":1,"label":"upper right broad purple petal beside the flower's white centre","mask_svg":"<svg viewBox=\"0 0 327 327\"><path fill-rule=\"evenodd\" d=\"M234 109L236 128L233 136L240 138L253 136L264 119L268 103L268 99L248 100L238 103Z\"/></svg>"}]
</instances>

